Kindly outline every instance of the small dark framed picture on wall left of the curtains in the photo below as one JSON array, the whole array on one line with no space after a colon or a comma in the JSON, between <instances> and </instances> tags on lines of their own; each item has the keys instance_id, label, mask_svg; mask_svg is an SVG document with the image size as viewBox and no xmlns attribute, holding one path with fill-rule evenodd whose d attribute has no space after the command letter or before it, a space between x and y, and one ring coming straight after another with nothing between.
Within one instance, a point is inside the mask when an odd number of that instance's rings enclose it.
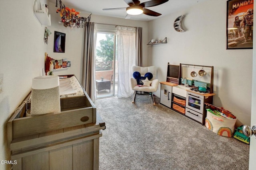
<instances>
[{"instance_id":1,"label":"small dark framed picture on wall left of the curtains","mask_svg":"<svg viewBox=\"0 0 256 170\"><path fill-rule=\"evenodd\" d=\"M53 52L65 53L66 34L54 31L54 47Z\"/></svg>"}]
</instances>

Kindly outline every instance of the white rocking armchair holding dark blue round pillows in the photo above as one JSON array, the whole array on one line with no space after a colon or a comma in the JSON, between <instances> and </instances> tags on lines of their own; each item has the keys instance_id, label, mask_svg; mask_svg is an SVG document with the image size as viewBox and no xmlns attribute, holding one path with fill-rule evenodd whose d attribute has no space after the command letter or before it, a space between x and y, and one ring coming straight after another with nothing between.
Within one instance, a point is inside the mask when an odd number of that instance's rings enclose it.
<instances>
[{"instance_id":1,"label":"white rocking armchair holding dark blue round pillows","mask_svg":"<svg viewBox=\"0 0 256 170\"><path fill-rule=\"evenodd\" d=\"M156 66L148 66L148 67L132 66L132 72L135 72L135 71L140 72L141 76L144 76L147 72L151 72L153 74L153 78L150 79L150 81L152 81L150 86L137 86L137 80L135 78L131 78L130 83L132 86L132 90L135 91L132 103L134 103L137 92L148 92L152 96L153 105L156 105L153 94L152 94L152 92L156 92L156 90L158 89L158 83L159 83L159 80L155 79Z\"/></svg>"}]
</instances>

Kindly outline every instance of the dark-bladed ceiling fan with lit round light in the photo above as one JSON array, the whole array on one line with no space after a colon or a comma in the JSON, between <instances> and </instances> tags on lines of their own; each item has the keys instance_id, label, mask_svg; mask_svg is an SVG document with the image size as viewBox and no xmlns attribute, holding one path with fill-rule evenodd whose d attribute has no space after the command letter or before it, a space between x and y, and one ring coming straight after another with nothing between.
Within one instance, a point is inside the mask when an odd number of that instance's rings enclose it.
<instances>
[{"instance_id":1,"label":"dark-bladed ceiling fan with lit round light","mask_svg":"<svg viewBox=\"0 0 256 170\"><path fill-rule=\"evenodd\" d=\"M139 0L124 0L129 7L125 8L106 8L102 10L122 10L126 9L126 13L130 15L139 15L139 14L146 14L148 16L160 16L162 14L158 12L154 12L152 10L147 9L148 7L158 6L160 4L164 4L169 0L150 0L147 2L140 3Z\"/></svg>"}]
</instances>

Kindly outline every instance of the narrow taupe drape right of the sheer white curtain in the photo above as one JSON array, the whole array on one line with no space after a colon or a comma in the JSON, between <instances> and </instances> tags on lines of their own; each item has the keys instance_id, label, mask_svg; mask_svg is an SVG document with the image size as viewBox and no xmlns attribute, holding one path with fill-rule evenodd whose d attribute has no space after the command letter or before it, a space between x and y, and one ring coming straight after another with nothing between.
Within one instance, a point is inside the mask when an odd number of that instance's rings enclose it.
<instances>
[{"instance_id":1,"label":"narrow taupe drape right of the sheer white curtain","mask_svg":"<svg viewBox=\"0 0 256 170\"><path fill-rule=\"evenodd\" d=\"M142 66L142 27L136 27L136 65Z\"/></svg>"}]
</instances>

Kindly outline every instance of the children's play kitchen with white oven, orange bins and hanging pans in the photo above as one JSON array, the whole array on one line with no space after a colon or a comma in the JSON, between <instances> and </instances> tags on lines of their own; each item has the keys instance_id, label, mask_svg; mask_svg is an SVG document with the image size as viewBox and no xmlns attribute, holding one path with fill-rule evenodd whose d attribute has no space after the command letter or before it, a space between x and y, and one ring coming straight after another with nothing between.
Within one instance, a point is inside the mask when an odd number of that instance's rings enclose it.
<instances>
[{"instance_id":1,"label":"children's play kitchen with white oven, orange bins and hanging pans","mask_svg":"<svg viewBox=\"0 0 256 170\"><path fill-rule=\"evenodd\" d=\"M160 82L160 104L205 124L205 104L212 104L213 66L168 63L166 82Z\"/></svg>"}]
</instances>

